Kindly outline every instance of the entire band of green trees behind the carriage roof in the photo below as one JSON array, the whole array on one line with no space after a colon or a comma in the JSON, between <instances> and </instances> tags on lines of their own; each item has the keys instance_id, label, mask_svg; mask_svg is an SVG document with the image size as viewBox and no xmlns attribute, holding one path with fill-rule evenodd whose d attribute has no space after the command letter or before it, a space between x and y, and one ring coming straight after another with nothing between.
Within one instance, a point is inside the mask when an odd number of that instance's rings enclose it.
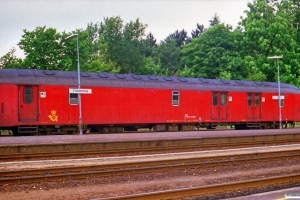
<instances>
[{"instance_id":1,"label":"entire band of green trees behind the carriage roof","mask_svg":"<svg viewBox=\"0 0 300 200\"><path fill-rule=\"evenodd\" d=\"M189 36L175 30L159 43L136 19L107 17L86 29L59 33L55 28L24 30L22 60L10 50L2 68L77 70L77 39L82 71L156 74L255 81L281 81L300 86L300 0L253 0L234 29L217 14L209 27L197 23ZM72 34L78 38L65 40Z\"/></svg>"}]
</instances>

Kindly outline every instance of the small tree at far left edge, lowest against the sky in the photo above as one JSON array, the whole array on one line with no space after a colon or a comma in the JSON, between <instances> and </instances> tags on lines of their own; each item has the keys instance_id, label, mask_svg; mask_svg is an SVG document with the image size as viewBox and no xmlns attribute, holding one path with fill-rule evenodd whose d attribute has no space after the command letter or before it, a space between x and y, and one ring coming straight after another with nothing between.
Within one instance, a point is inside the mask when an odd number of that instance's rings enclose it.
<instances>
[{"instance_id":1,"label":"small tree at far left edge, lowest against the sky","mask_svg":"<svg viewBox=\"0 0 300 200\"><path fill-rule=\"evenodd\" d=\"M20 68L22 59L15 56L16 49L12 48L7 54L0 58L0 68Z\"/></svg>"}]
</instances>

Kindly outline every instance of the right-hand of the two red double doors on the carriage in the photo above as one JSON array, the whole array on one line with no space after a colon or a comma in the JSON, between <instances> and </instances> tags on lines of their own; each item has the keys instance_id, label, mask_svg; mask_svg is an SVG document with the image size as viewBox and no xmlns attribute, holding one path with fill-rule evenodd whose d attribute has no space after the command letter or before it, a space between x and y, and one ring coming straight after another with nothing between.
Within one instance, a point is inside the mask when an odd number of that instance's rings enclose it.
<instances>
[{"instance_id":1,"label":"right-hand of the two red double doors on the carriage","mask_svg":"<svg viewBox=\"0 0 300 200\"><path fill-rule=\"evenodd\" d=\"M248 119L261 118L261 94L254 94L254 93L247 94L247 118Z\"/></svg>"}]
</instances>

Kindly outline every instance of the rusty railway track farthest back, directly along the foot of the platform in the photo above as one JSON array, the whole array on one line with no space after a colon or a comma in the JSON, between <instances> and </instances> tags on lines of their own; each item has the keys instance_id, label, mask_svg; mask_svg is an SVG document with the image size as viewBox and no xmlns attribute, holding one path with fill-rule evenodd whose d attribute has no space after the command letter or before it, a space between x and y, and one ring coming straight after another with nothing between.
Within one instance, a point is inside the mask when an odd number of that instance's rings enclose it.
<instances>
[{"instance_id":1,"label":"rusty railway track farthest back, directly along the foot of the platform","mask_svg":"<svg viewBox=\"0 0 300 200\"><path fill-rule=\"evenodd\" d=\"M240 143L224 143L222 149L236 148L236 147L250 147L260 145L282 145L293 144L299 142L299 139L277 140L277 141L254 141L254 142L240 142ZM5 161L21 161L21 160L37 160L37 159L59 159L68 157L104 157L104 156L121 156L121 155L143 155L157 152L171 153L171 152L188 152L205 149L220 148L219 144L201 144L190 146L167 146L167 147L143 147L132 149L108 149L108 150L82 150L82 151L62 151L62 152L36 152L36 153L14 153L14 154L0 154L0 162Z\"/></svg>"}]
</instances>

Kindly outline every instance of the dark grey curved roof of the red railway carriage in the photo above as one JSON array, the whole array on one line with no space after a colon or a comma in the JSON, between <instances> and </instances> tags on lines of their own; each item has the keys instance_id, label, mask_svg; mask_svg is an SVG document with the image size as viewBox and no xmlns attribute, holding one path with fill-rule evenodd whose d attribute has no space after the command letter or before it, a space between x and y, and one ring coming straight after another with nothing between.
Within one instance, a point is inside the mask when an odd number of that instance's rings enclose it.
<instances>
[{"instance_id":1,"label":"dark grey curved roof of the red railway carriage","mask_svg":"<svg viewBox=\"0 0 300 200\"><path fill-rule=\"evenodd\" d=\"M130 88L165 88L211 91L245 91L245 92L278 92L278 83L238 80L217 80L205 78L162 77L154 75L80 73L81 86L130 87ZM78 85L78 72L0 69L0 84L31 85ZM299 93L294 85L280 84L283 93Z\"/></svg>"}]
</instances>

